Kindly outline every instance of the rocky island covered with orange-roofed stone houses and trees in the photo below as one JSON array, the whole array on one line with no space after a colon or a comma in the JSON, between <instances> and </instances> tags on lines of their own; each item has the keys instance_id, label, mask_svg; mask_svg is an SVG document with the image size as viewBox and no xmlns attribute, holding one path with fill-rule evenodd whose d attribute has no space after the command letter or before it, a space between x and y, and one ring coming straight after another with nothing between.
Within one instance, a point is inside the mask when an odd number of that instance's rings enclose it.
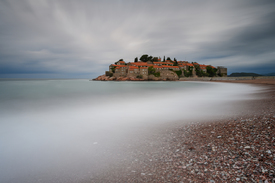
<instances>
[{"instance_id":1,"label":"rocky island covered with orange-roofed stone houses and trees","mask_svg":"<svg viewBox=\"0 0 275 183\"><path fill-rule=\"evenodd\" d=\"M134 62L126 63L123 59L109 66L109 71L93 79L96 81L176 81L180 78L226 77L227 68L199 64L197 62L161 60L160 57L142 55Z\"/></svg>"}]
</instances>

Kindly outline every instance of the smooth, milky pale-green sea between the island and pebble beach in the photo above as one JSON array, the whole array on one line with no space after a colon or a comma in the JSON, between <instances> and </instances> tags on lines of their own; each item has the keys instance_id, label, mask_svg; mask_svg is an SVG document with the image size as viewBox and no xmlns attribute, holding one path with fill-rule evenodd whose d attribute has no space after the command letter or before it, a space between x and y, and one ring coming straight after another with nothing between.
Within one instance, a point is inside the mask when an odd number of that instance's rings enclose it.
<instances>
[{"instance_id":1,"label":"smooth, milky pale-green sea between the island and pebble beach","mask_svg":"<svg viewBox=\"0 0 275 183\"><path fill-rule=\"evenodd\" d=\"M0 81L0 182L77 182L141 131L221 117L261 88L208 82ZM234 111L234 110L233 110ZM104 165L104 166L103 166Z\"/></svg>"}]
</instances>

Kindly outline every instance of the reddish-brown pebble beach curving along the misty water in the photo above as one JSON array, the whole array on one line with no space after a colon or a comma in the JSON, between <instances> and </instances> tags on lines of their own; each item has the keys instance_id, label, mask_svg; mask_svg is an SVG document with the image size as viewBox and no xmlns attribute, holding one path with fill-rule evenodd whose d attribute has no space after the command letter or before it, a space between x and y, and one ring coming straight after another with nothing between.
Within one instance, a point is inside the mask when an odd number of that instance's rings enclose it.
<instances>
[{"instance_id":1,"label":"reddish-brown pebble beach curving along the misty water","mask_svg":"<svg viewBox=\"0 0 275 183\"><path fill-rule=\"evenodd\" d=\"M266 89L240 114L163 129L87 182L275 182L275 80L248 83Z\"/></svg>"}]
</instances>

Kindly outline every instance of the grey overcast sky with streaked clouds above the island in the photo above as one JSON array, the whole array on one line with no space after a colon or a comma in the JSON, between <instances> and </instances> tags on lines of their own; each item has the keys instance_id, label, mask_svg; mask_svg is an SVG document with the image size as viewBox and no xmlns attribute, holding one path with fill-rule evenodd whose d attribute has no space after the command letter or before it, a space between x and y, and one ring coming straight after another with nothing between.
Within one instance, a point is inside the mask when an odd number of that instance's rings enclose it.
<instances>
[{"instance_id":1,"label":"grey overcast sky with streaked clouds above the island","mask_svg":"<svg viewBox=\"0 0 275 183\"><path fill-rule=\"evenodd\" d=\"M143 54L275 72L275 1L0 0L0 77L94 78Z\"/></svg>"}]
</instances>

